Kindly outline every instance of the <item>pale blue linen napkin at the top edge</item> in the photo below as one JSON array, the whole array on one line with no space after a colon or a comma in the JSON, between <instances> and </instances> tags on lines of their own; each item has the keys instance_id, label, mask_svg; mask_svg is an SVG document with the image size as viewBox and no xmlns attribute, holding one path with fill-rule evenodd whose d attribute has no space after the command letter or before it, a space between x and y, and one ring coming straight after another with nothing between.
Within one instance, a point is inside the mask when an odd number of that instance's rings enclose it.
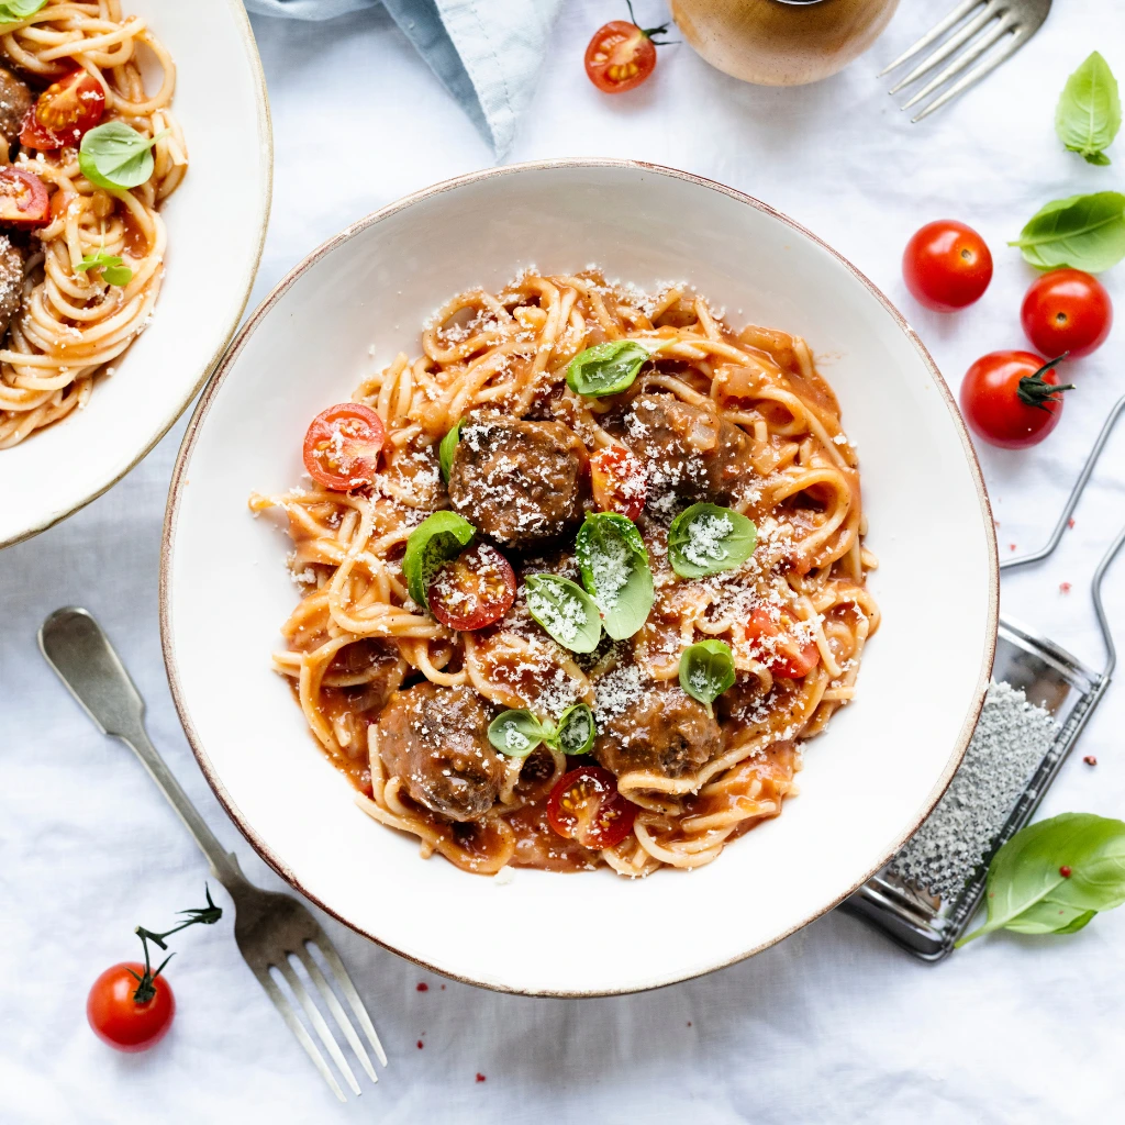
<instances>
[{"instance_id":1,"label":"pale blue linen napkin at the top edge","mask_svg":"<svg viewBox=\"0 0 1125 1125\"><path fill-rule=\"evenodd\" d=\"M503 159L531 102L562 0L245 0L248 10L332 19L382 3Z\"/></svg>"}]
</instances>

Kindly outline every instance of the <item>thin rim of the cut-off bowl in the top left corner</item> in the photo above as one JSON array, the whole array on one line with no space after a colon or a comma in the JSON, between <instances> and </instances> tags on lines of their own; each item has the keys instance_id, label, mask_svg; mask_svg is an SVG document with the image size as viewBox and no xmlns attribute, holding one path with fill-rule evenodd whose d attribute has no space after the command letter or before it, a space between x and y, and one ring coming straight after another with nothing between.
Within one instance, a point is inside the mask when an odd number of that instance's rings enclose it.
<instances>
[{"instance_id":1,"label":"thin rim of the cut-off bowl in the top left corner","mask_svg":"<svg viewBox=\"0 0 1125 1125\"><path fill-rule=\"evenodd\" d=\"M235 333L238 331L238 324L242 322L242 314L245 313L246 305L250 304L250 295L253 291L254 281L258 279L258 268L262 261L262 251L266 249L266 232L270 225L270 210L273 204L273 124L270 116L269 93L266 88L266 72L262 70L262 60L258 53L258 42L254 39L254 30L250 25L250 16L246 14L246 9L242 0L226 0L226 6L231 10L231 15L234 17L235 28L242 39L246 58L250 62L251 72L254 79L254 100L258 109L259 140L264 144L266 148L266 182L262 184L261 230L258 234L258 245L254 248L252 260L248 263L243 282L243 292L241 299L238 300L238 307L230 317L227 328L223 333L222 342L202 364L198 378L183 393L173 411L165 415L152 438L140 450L137 450L136 456L129 461L129 464L126 465L125 468L123 468L111 480L107 480L104 485L94 488L93 492L88 493L81 500L75 501L72 504L64 505L47 515L40 516L34 524L32 524L32 526L16 532L8 539L0 539L0 550L4 547L11 547L14 543L20 543L26 539L32 539L40 532L46 531L48 528L53 528L56 523L60 523L68 516L81 511L87 504L93 503L93 501L96 501L99 496L104 496L115 485L120 484L120 482L124 480L163 440L168 431L176 425L180 415L182 415L188 408L191 399L199 394L204 384L214 374L219 360L223 359L226 350L231 346L231 341L234 339Z\"/></svg>"}]
</instances>

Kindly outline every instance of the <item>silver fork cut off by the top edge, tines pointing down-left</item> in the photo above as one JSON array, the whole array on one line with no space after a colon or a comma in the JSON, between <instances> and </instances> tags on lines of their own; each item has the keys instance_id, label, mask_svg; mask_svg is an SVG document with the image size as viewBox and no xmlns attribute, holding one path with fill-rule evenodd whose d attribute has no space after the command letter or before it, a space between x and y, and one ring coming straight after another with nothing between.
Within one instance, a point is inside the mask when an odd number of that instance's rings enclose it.
<instances>
[{"instance_id":1,"label":"silver fork cut off by the top edge, tines pointing down-left","mask_svg":"<svg viewBox=\"0 0 1125 1125\"><path fill-rule=\"evenodd\" d=\"M890 66L880 71L879 76L890 74L892 70L897 70L919 52L948 35L948 38L932 54L891 87L890 92L898 93L944 63L951 55L961 52L902 105L903 109L910 109L961 74L970 63L984 56L972 70L962 74L947 90L911 118L912 122L920 122L957 94L964 93L971 86L975 86L1006 58L1010 58L1043 26L1048 11L1051 11L1051 0L964 0L909 51L903 52Z\"/></svg>"}]
</instances>

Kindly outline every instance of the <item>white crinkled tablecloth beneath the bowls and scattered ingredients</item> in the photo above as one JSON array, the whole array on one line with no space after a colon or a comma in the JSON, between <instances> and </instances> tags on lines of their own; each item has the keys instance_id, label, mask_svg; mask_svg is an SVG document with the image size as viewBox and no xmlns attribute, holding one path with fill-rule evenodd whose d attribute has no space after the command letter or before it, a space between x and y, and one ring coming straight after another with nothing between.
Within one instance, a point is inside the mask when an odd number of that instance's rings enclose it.
<instances>
[{"instance_id":1,"label":"white crinkled tablecloth beneath the bowls and scattered ingredients","mask_svg":"<svg viewBox=\"0 0 1125 1125\"><path fill-rule=\"evenodd\" d=\"M664 15L657 0L636 7L649 24ZM572 0L513 159L640 158L767 200L883 286L955 387L979 354L1023 344L1018 308L1030 273L1005 241L1047 199L1122 184L1125 142L1112 169L1090 168L1059 151L1052 119L1066 74L1094 47L1125 78L1125 12L1098 0L1055 9L983 88L912 127L874 72L933 19L929 4L903 4L871 55L820 86L744 86L681 46L662 48L654 81L611 99L586 81L582 53L594 27L621 14ZM256 300L345 223L490 156L381 9L314 26L262 19L255 30L277 142ZM942 216L978 227L997 258L991 289L958 316L919 309L899 274L910 233ZM1125 266L1106 281L1125 313ZM1002 551L1036 544L1053 522L1100 420L1125 392L1123 334L1125 325L1072 368L1079 389L1050 441L1026 453L981 450ZM962 1123L1119 1114L1125 910L1073 937L980 942L936 968L832 914L703 980L587 1001L443 983L325 919L390 1055L378 1088L346 1107L278 1019L225 920L189 930L176 946L170 978L179 1014L169 1038L138 1056L104 1047L86 1025L90 982L137 953L136 924L161 928L173 911L197 906L206 868L136 760L94 731L43 663L35 630L51 610L80 603L101 619L184 788L248 874L279 883L204 782L164 680L156 573L181 432L182 424L107 496L0 554L4 1125ZM1123 465L1125 433L1107 451L1058 558L1004 586L1007 614L1095 664L1102 656L1084 583L1125 520ZM957 549L936 547L936 566L942 550ZM1073 583L1070 594L1060 592L1062 582ZM1107 585L1125 640L1125 561ZM939 614L940 605L921 606L920 628ZM918 699L919 722L939 705L940 684L930 686ZM1123 727L1118 684L1045 811L1125 810ZM909 754L910 731L901 737ZM1098 766L1083 765L1082 754L1097 755ZM226 901L222 889L217 897ZM420 981L428 991L417 990Z\"/></svg>"}]
</instances>

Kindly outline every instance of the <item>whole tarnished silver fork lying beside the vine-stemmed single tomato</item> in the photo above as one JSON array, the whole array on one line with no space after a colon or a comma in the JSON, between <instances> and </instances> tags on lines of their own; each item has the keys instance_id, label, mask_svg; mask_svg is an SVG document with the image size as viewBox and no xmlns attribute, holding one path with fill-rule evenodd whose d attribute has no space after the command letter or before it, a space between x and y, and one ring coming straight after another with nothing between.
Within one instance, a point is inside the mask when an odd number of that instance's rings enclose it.
<instances>
[{"instance_id":1,"label":"whole tarnished silver fork lying beside the vine-stemmed single tomato","mask_svg":"<svg viewBox=\"0 0 1125 1125\"><path fill-rule=\"evenodd\" d=\"M378 1082L379 1078L362 1041L312 951L316 950L323 957L328 970L327 975L334 980L336 989L351 1008L376 1056L386 1066L387 1056L382 1045L375 1034L375 1027L363 1007L363 1001L356 991L356 986L352 984L340 955L332 947L320 922L305 906L290 894L263 891L249 883L238 867L238 860L234 853L223 849L196 807L188 800L187 793L180 789L179 782L164 764L164 759L148 740L144 728L144 700L141 699L140 692L125 670L125 665L122 664L120 657L98 622L82 609L56 610L39 629L39 648L47 663L58 674L58 678L81 703L101 732L119 738L136 754L152 780L179 813L188 831L195 837L204 855L207 856L212 874L227 889L234 900L234 939L243 958L336 1097L341 1101L348 1100L324 1055L270 972L271 969L277 970L285 979L325 1051L352 1092L359 1095L359 1082L356 1081L356 1076L348 1065L340 1045L328 1030L328 1025L294 968L291 960L294 957L304 965L321 999L368 1077L372 1082Z\"/></svg>"}]
</instances>

